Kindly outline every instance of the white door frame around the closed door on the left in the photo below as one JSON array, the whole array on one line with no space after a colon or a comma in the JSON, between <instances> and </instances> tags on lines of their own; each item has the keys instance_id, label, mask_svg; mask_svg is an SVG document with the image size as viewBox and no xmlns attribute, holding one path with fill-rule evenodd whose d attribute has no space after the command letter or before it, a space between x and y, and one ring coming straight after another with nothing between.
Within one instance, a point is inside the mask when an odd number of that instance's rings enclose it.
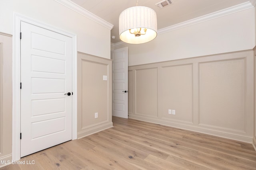
<instances>
[{"instance_id":1,"label":"white door frame around the closed door on the left","mask_svg":"<svg viewBox=\"0 0 256 170\"><path fill-rule=\"evenodd\" d=\"M42 27L72 38L72 140L77 139L77 35L36 21L16 12L12 14L12 161L20 160L20 22Z\"/></svg>"}]
</instances>

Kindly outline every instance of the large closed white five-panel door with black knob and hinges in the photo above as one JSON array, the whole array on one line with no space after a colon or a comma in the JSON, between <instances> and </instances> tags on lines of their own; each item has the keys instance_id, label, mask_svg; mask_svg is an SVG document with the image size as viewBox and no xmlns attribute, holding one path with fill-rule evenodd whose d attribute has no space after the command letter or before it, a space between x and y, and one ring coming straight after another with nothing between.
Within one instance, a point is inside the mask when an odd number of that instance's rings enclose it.
<instances>
[{"instance_id":1,"label":"large closed white five-panel door with black knob and hinges","mask_svg":"<svg viewBox=\"0 0 256 170\"><path fill-rule=\"evenodd\" d=\"M25 22L21 32L23 157L72 139L72 38Z\"/></svg>"}]
</instances>

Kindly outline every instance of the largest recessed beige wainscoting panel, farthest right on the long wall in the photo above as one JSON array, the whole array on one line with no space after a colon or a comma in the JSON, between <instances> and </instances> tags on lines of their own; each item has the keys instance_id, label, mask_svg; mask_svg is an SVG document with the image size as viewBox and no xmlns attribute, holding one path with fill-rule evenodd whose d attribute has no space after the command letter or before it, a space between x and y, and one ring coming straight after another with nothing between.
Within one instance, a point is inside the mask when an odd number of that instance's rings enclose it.
<instances>
[{"instance_id":1,"label":"largest recessed beige wainscoting panel, farthest right on the long wall","mask_svg":"<svg viewBox=\"0 0 256 170\"><path fill-rule=\"evenodd\" d=\"M199 63L200 125L246 131L245 62Z\"/></svg>"}]
</instances>

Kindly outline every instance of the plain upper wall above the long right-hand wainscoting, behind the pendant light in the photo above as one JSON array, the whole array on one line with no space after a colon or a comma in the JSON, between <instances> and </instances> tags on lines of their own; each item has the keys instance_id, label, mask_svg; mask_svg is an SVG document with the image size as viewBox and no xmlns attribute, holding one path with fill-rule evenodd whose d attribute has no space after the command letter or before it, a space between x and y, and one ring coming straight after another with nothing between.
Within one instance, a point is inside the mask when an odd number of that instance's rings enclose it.
<instances>
[{"instance_id":1,"label":"plain upper wall above the long right-hand wainscoting, behind the pendant light","mask_svg":"<svg viewBox=\"0 0 256 170\"><path fill-rule=\"evenodd\" d=\"M254 8L242 10L160 34L148 43L115 49L128 47L128 66L253 49L254 12Z\"/></svg>"}]
</instances>

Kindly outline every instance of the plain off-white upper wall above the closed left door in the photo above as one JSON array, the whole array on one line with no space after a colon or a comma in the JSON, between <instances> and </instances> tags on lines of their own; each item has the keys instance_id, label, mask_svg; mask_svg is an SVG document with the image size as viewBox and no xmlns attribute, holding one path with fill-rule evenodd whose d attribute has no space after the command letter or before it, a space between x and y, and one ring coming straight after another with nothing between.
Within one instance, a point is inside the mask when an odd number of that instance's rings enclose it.
<instances>
[{"instance_id":1,"label":"plain off-white upper wall above the closed left door","mask_svg":"<svg viewBox=\"0 0 256 170\"><path fill-rule=\"evenodd\" d=\"M110 59L110 29L55 0L1 0L0 32L13 34L12 12L74 33L77 51Z\"/></svg>"}]
</instances>

